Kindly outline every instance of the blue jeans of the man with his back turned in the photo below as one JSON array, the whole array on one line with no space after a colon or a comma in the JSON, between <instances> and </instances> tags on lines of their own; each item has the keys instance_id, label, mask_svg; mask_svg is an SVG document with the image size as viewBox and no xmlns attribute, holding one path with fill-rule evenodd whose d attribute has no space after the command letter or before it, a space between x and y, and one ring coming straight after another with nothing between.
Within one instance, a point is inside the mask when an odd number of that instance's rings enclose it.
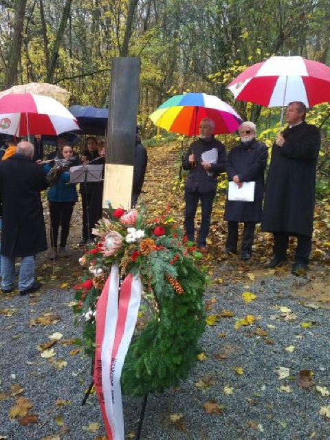
<instances>
[{"instance_id":1,"label":"blue jeans of the man with his back turned","mask_svg":"<svg viewBox=\"0 0 330 440\"><path fill-rule=\"evenodd\" d=\"M34 283L34 255L23 256L19 268L19 291L30 289ZM1 255L1 287L3 290L14 289L15 284L15 257Z\"/></svg>"}]
</instances>

